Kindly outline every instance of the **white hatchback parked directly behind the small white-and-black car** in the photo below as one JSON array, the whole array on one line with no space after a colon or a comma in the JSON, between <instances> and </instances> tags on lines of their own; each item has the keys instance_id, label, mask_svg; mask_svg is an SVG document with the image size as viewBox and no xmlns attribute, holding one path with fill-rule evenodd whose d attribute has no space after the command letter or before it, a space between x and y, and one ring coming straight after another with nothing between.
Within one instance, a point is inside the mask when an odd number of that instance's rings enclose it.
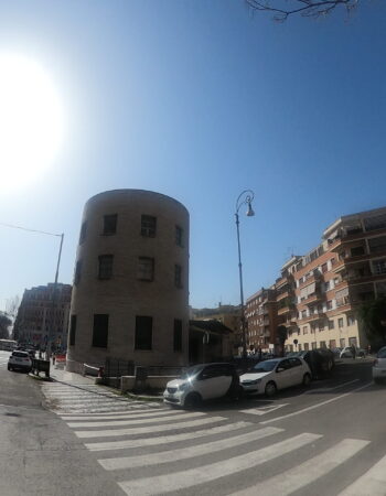
<instances>
[{"instance_id":1,"label":"white hatchback parked directly behind the small white-and-black car","mask_svg":"<svg viewBox=\"0 0 386 496\"><path fill-rule=\"evenodd\" d=\"M244 392L265 393L270 397L278 389L311 382L311 370L308 364L298 357L275 358L260 362L247 374L240 376Z\"/></svg>"}]
</instances>

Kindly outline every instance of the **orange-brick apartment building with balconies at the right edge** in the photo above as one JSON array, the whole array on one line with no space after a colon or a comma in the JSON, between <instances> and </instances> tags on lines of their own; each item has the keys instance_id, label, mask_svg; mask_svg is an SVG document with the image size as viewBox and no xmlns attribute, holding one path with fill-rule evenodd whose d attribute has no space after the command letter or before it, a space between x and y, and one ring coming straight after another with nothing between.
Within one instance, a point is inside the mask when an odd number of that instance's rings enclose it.
<instances>
[{"instance_id":1,"label":"orange-brick apartment building with balconies at the right edge","mask_svg":"<svg viewBox=\"0 0 386 496\"><path fill-rule=\"evenodd\" d=\"M367 346L356 309L386 293L386 207L340 217L290 269L297 319L286 324L287 349Z\"/></svg>"}]
</instances>

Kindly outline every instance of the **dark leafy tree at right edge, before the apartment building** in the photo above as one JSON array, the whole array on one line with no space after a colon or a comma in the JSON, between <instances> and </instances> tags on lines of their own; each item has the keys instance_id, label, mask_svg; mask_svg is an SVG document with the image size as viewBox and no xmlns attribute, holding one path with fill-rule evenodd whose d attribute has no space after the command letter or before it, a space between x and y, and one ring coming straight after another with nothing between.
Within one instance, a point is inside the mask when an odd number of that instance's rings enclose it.
<instances>
[{"instance_id":1,"label":"dark leafy tree at right edge, before the apartment building","mask_svg":"<svg viewBox=\"0 0 386 496\"><path fill-rule=\"evenodd\" d=\"M386 343L386 296L363 303L356 311L371 344L379 347Z\"/></svg>"}]
</instances>

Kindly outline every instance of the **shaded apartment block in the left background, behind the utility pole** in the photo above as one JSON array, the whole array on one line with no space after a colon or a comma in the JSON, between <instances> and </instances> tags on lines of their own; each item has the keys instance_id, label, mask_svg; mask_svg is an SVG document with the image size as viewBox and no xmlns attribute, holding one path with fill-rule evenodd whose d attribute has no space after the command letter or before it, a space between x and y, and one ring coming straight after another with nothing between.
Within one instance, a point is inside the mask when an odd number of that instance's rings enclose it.
<instances>
[{"instance_id":1,"label":"shaded apartment block in the left background, behind the utility pole","mask_svg":"<svg viewBox=\"0 0 386 496\"><path fill-rule=\"evenodd\" d=\"M45 348L51 333L53 348L65 349L72 285L54 283L24 291L13 327L13 338Z\"/></svg>"}]
</instances>

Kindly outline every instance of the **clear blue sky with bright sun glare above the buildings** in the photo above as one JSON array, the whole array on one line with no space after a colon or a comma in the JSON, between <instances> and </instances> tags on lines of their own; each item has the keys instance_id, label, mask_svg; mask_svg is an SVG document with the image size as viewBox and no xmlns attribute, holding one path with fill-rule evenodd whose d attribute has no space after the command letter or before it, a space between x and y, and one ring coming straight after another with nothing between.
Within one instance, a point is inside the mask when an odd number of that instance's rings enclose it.
<instances>
[{"instance_id":1,"label":"clear blue sky with bright sun glare above the buildings","mask_svg":"<svg viewBox=\"0 0 386 496\"><path fill-rule=\"evenodd\" d=\"M337 217L386 205L385 25L380 0L285 23L244 0L0 0L0 54L44 69L63 119L44 171L10 183L0 162L0 223L64 233L72 283L90 196L167 194L190 212L190 304L238 304L240 192L246 298ZM0 224L0 310L54 280L58 246Z\"/></svg>"}]
</instances>

